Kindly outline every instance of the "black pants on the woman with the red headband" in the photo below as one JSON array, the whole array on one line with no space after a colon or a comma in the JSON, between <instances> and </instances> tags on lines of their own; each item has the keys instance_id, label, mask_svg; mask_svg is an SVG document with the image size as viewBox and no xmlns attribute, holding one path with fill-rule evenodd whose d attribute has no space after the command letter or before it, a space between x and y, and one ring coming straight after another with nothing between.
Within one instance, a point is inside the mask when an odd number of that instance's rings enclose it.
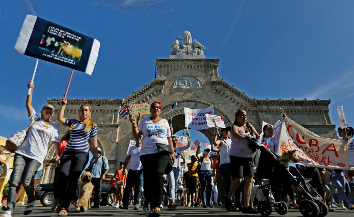
<instances>
[{"instance_id":1,"label":"black pants on the woman with the red headband","mask_svg":"<svg viewBox=\"0 0 354 217\"><path fill-rule=\"evenodd\" d=\"M150 202L150 208L160 207L164 188L164 171L169 161L168 152L145 154L140 156L143 165L144 195Z\"/></svg>"}]
</instances>

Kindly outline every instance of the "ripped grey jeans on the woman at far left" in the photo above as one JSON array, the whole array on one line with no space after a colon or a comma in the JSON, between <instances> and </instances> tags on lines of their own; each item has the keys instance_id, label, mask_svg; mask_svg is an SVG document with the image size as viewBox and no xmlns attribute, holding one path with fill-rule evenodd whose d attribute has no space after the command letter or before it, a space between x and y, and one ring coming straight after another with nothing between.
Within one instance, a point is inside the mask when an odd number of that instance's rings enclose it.
<instances>
[{"instance_id":1,"label":"ripped grey jeans on the woman at far left","mask_svg":"<svg viewBox=\"0 0 354 217\"><path fill-rule=\"evenodd\" d=\"M31 203L35 200L33 194L33 177L34 173L38 170L40 165L41 164L37 160L22 156L20 154L15 154L7 198L7 210L11 211L11 214L13 214L13 209L15 209L17 189L21 180L24 190L28 196L28 203Z\"/></svg>"}]
</instances>

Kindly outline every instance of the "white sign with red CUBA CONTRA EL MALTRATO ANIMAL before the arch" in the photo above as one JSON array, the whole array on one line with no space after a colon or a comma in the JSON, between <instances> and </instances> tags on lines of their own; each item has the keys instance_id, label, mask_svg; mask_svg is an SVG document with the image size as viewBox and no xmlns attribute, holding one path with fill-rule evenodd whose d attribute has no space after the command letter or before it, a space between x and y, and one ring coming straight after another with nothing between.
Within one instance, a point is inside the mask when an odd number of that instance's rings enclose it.
<instances>
[{"instance_id":1,"label":"white sign with red CUBA CONTRA EL MALTRATO ANIMAL before the arch","mask_svg":"<svg viewBox=\"0 0 354 217\"><path fill-rule=\"evenodd\" d=\"M202 130L211 128L206 123L205 114L214 115L214 106L211 105L206 109L188 109L184 108L185 127L194 130Z\"/></svg>"}]
</instances>

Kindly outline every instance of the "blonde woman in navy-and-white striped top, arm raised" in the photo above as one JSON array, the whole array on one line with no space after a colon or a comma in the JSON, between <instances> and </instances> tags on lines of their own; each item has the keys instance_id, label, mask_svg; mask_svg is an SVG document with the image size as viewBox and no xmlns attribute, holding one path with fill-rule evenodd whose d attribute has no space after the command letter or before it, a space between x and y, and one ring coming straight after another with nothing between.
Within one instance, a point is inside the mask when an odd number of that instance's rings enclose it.
<instances>
[{"instance_id":1,"label":"blonde woman in navy-and-white striped top, arm raised","mask_svg":"<svg viewBox=\"0 0 354 217\"><path fill-rule=\"evenodd\" d=\"M68 215L68 207L76 192L79 176L89 161L90 144L93 157L97 162L97 132L98 128L91 121L91 107L82 104L79 109L79 120L64 118L67 99L61 100L57 120L64 126L70 127L70 139L60 160L58 187L60 189L59 204L56 209L59 216Z\"/></svg>"}]
</instances>

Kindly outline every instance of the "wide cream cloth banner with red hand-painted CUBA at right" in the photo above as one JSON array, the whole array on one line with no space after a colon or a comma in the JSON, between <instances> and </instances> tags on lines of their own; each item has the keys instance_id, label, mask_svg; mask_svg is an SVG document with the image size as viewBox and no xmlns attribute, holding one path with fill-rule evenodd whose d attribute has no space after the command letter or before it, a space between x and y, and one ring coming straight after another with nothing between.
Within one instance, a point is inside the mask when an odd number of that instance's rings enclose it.
<instances>
[{"instance_id":1,"label":"wide cream cloth banner with red hand-painted CUBA at right","mask_svg":"<svg viewBox=\"0 0 354 217\"><path fill-rule=\"evenodd\" d=\"M298 164L349 169L347 148L346 141L320 137L288 117L281 120L277 153L296 150Z\"/></svg>"}]
</instances>

